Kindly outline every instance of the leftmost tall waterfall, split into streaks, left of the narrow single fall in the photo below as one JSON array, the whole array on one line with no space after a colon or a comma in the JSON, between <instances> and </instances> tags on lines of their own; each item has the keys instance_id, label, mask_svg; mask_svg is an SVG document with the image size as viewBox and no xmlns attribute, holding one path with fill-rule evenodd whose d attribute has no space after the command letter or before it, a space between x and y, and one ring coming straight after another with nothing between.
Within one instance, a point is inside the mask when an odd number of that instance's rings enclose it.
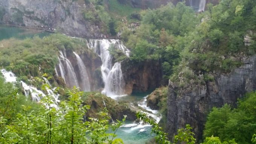
<instances>
[{"instance_id":1,"label":"leftmost tall waterfall, split into streaks, left of the narrow single fall","mask_svg":"<svg viewBox=\"0 0 256 144\"><path fill-rule=\"evenodd\" d=\"M66 67L67 67L67 71L65 71L66 75L64 76L67 86L70 88L72 88L73 86L79 87L74 68L73 68L71 62L69 61L69 59L67 59L65 51L64 51L64 54L62 53L62 51L59 51L59 53L60 53L61 60L63 60L65 62ZM60 62L60 64L61 64L61 62ZM62 66L59 66L60 70L62 70ZM63 70L62 70L62 72L63 72Z\"/></svg>"}]
</instances>

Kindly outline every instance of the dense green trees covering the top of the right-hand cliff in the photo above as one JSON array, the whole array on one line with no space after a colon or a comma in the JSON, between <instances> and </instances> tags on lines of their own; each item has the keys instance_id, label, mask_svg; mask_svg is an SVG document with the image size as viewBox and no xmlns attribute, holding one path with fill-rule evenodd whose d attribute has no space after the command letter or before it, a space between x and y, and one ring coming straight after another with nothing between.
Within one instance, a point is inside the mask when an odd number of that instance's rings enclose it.
<instances>
[{"instance_id":1,"label":"dense green trees covering the top of the right-hand cliff","mask_svg":"<svg viewBox=\"0 0 256 144\"><path fill-rule=\"evenodd\" d=\"M162 59L164 77L173 76L180 86L188 83L178 77L189 81L203 74L203 80L210 80L209 73L228 73L240 66L244 56L255 53L255 3L222 0L207 8L195 14L178 3L142 13L139 29L122 35L131 59Z\"/></svg>"}]
</instances>

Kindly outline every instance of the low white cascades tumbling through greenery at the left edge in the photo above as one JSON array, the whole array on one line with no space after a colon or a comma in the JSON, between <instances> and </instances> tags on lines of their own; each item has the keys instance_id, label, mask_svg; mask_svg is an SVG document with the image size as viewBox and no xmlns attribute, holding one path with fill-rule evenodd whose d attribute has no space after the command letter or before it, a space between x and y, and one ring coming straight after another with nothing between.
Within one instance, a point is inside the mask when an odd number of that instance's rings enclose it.
<instances>
[{"instance_id":1,"label":"low white cascades tumbling through greenery at the left edge","mask_svg":"<svg viewBox=\"0 0 256 144\"><path fill-rule=\"evenodd\" d=\"M11 71L6 71L5 69L3 69L3 70L1 70L1 72L2 72L3 76L5 77L6 82L17 82L17 80L16 80L17 77ZM44 79L44 80L46 80L46 83L48 83L50 85L50 83L48 82L47 79ZM46 96L43 93L43 91L38 90L36 87L29 86L23 81L20 81L20 83L23 87L25 95L27 97L29 95L31 95L31 98L32 98L33 101L40 102L41 98ZM59 94L54 94L54 92L53 92L54 90L55 90L55 88L54 89L47 89L47 93L53 97L54 104L52 104L51 107L58 108Z\"/></svg>"}]
</instances>

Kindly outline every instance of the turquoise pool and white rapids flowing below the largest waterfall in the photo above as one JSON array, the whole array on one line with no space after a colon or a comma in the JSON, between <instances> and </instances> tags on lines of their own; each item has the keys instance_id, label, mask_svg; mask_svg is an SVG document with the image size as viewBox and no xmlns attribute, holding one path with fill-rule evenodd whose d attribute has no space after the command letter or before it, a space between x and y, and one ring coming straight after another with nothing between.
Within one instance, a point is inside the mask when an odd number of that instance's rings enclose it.
<instances>
[{"instance_id":1,"label":"turquoise pool and white rapids flowing below the largest waterfall","mask_svg":"<svg viewBox=\"0 0 256 144\"><path fill-rule=\"evenodd\" d=\"M158 111L152 110L146 106L146 97L151 92L139 92L131 95L118 97L116 100L127 103L131 109L135 111L142 111L148 114L148 116L154 118L157 122L160 121L160 114ZM145 144L154 138L154 134L151 133L152 127L149 124L145 124L142 121L125 121L125 124L117 131L117 138L123 139L125 144Z\"/></svg>"}]
</instances>

